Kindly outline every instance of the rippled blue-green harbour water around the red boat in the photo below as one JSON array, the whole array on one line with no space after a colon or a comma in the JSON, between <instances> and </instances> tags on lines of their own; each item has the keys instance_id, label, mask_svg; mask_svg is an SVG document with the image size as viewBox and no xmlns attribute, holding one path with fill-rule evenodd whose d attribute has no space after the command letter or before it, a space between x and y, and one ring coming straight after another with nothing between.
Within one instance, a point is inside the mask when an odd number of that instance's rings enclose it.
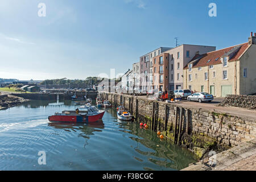
<instances>
[{"instance_id":1,"label":"rippled blue-green harbour water around the red boat","mask_svg":"<svg viewBox=\"0 0 256 182\"><path fill-rule=\"evenodd\" d=\"M179 170L197 160L138 123L118 121L114 108L90 125L48 122L76 108L72 101L30 101L1 110L0 170Z\"/></svg>"}]
</instances>

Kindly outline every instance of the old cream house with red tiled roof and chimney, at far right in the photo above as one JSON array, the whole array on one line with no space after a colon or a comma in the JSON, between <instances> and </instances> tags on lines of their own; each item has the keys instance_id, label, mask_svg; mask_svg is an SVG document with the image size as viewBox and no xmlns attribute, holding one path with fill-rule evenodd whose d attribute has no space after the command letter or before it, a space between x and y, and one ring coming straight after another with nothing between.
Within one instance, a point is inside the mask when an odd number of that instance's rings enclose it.
<instances>
[{"instance_id":1,"label":"old cream house with red tiled roof and chimney, at far right","mask_svg":"<svg viewBox=\"0 0 256 182\"><path fill-rule=\"evenodd\" d=\"M256 34L247 43L197 54L183 70L184 88L216 97L256 91Z\"/></svg>"}]
</instances>

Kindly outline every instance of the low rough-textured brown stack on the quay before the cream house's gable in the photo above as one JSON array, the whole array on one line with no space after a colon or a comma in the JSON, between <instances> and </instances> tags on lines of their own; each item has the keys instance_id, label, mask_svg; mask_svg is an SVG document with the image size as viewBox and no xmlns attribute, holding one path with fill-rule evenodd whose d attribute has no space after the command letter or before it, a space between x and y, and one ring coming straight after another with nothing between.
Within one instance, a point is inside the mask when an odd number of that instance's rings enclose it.
<instances>
[{"instance_id":1,"label":"low rough-textured brown stack on the quay before the cream house's gable","mask_svg":"<svg viewBox=\"0 0 256 182\"><path fill-rule=\"evenodd\" d=\"M228 95L220 106L233 106L247 109L256 109L256 96Z\"/></svg>"}]
</instances>

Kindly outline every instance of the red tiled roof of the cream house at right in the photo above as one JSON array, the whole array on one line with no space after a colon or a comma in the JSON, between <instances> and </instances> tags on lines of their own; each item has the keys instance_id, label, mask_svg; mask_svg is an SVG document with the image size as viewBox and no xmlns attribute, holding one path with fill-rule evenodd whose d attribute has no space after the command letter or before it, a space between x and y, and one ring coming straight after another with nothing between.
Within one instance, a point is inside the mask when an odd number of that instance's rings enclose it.
<instances>
[{"instance_id":1,"label":"red tiled roof of the cream house at right","mask_svg":"<svg viewBox=\"0 0 256 182\"><path fill-rule=\"evenodd\" d=\"M203 56L203 58L201 58L199 61L197 61L197 63L195 63L193 65L193 68L207 67L208 65L221 64L221 56L223 56L225 53L229 52L231 49L233 49L234 47L237 47L237 46L241 46L241 48L229 60L229 62L235 61L238 59L238 57L240 57L242 55L242 53L245 51L245 49L249 46L248 43L243 43L243 44L239 44L236 46L220 49L217 51L208 52L208 53L205 53L204 55L195 55L195 57L193 57L193 59L191 61L189 61L189 63L192 63L192 61L195 61L196 59L198 59L199 56ZM218 58L218 60L217 60L217 58ZM188 69L188 65L185 65L184 69Z\"/></svg>"}]
</instances>

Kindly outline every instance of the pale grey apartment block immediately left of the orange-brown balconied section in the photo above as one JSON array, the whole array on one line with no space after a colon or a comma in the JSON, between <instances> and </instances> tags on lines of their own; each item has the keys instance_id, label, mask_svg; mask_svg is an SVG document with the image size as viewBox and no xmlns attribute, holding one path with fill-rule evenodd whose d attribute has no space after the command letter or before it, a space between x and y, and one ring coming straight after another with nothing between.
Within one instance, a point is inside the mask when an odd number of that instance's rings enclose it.
<instances>
[{"instance_id":1,"label":"pale grey apartment block immediately left of the orange-brown balconied section","mask_svg":"<svg viewBox=\"0 0 256 182\"><path fill-rule=\"evenodd\" d=\"M160 47L143 55L139 58L140 63L140 89L152 89L152 61L153 57L160 55L162 52L171 49L170 47Z\"/></svg>"}]
</instances>

